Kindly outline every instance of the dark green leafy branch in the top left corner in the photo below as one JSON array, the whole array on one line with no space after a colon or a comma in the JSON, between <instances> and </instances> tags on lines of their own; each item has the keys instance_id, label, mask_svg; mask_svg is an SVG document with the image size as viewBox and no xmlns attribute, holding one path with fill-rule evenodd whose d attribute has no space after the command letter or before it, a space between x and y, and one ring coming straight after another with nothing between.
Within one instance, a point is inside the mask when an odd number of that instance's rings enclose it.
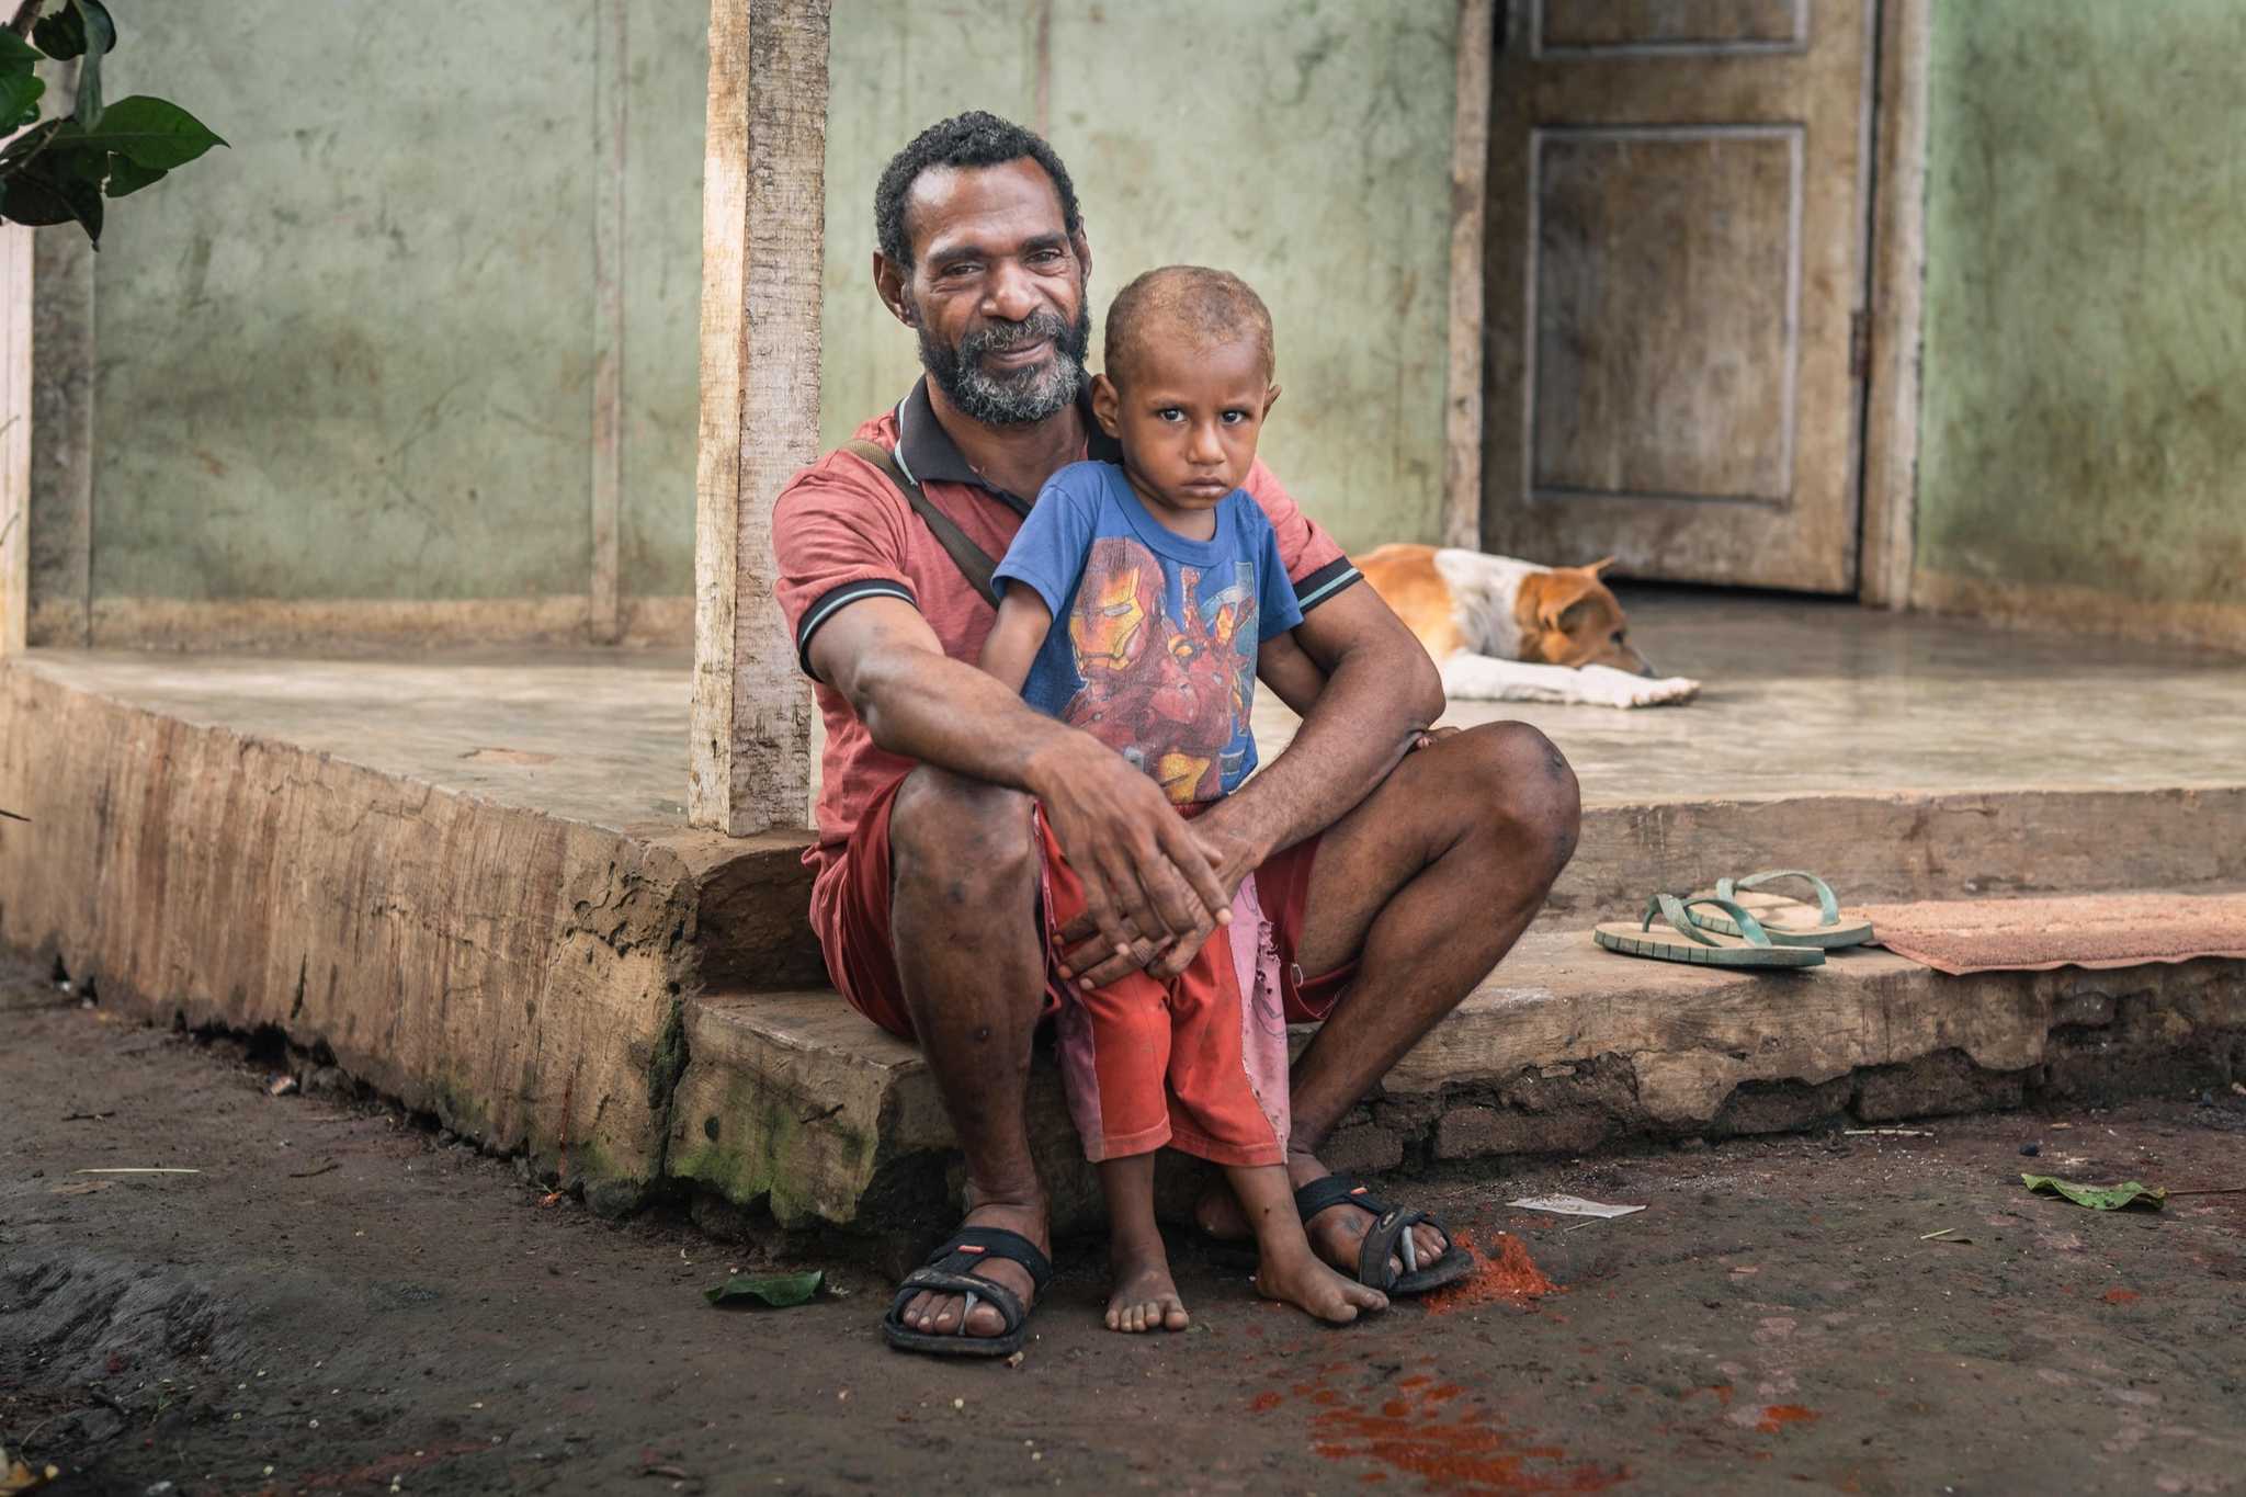
<instances>
[{"instance_id":1,"label":"dark green leafy branch in the top left corner","mask_svg":"<svg viewBox=\"0 0 2246 1497\"><path fill-rule=\"evenodd\" d=\"M103 198L126 198L162 182L211 146L225 146L200 119L168 99L101 99L101 58L117 47L117 22L101 0L22 0L0 29L0 220L83 224L101 245ZM70 114L40 121L43 61L79 63Z\"/></svg>"}]
</instances>

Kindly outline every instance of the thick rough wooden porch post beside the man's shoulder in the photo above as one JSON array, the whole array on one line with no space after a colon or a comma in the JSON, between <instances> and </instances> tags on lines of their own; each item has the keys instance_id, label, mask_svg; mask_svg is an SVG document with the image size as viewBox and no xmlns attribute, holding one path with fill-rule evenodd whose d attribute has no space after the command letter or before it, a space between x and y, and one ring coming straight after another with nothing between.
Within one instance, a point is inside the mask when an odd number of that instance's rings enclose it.
<instances>
[{"instance_id":1,"label":"thick rough wooden porch post beside the man's shoulder","mask_svg":"<svg viewBox=\"0 0 2246 1497\"><path fill-rule=\"evenodd\" d=\"M831 0L710 0L687 817L804 826L811 698L773 599L773 498L818 453Z\"/></svg>"}]
</instances>

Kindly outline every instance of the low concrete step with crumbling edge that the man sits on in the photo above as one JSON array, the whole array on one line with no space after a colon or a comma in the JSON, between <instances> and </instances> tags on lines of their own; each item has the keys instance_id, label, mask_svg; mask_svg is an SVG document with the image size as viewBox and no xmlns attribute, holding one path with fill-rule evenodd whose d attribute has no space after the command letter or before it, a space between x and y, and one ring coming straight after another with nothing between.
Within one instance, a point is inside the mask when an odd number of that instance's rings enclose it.
<instances>
[{"instance_id":1,"label":"low concrete step with crumbling edge that the man sits on","mask_svg":"<svg viewBox=\"0 0 2246 1497\"><path fill-rule=\"evenodd\" d=\"M2246 1075L2246 963L1943 976L1900 956L1750 974L1613 956L1536 929L1334 1136L1330 1163L1581 1154L2226 1086ZM1031 1136L1056 1219L1096 1219L1058 1068ZM928 1064L831 992L723 992L687 1017L669 1174L791 1225L925 1228L957 1149Z\"/></svg>"}]
</instances>

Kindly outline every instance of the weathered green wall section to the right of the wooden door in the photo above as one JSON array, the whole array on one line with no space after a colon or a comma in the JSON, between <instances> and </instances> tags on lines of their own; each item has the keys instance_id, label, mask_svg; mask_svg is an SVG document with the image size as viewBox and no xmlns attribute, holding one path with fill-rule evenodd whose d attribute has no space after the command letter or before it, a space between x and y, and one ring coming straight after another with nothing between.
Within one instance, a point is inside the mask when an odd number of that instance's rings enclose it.
<instances>
[{"instance_id":1,"label":"weathered green wall section to the right of the wooden door","mask_svg":"<svg viewBox=\"0 0 2246 1497\"><path fill-rule=\"evenodd\" d=\"M1934 7L1918 595L2246 606L2239 58L2237 0Z\"/></svg>"}]
</instances>

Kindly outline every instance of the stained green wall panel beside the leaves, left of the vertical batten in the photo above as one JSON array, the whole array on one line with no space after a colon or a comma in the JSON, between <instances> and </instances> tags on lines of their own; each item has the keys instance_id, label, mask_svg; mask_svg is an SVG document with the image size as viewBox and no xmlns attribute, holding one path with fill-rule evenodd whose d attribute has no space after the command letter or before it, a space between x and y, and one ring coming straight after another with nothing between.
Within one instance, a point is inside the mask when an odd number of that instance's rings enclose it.
<instances>
[{"instance_id":1,"label":"stained green wall panel beside the leaves, left of the vertical batten","mask_svg":"<svg viewBox=\"0 0 2246 1497\"><path fill-rule=\"evenodd\" d=\"M97 601L584 593L591 2L117 18L234 148L110 215Z\"/></svg>"}]
</instances>

